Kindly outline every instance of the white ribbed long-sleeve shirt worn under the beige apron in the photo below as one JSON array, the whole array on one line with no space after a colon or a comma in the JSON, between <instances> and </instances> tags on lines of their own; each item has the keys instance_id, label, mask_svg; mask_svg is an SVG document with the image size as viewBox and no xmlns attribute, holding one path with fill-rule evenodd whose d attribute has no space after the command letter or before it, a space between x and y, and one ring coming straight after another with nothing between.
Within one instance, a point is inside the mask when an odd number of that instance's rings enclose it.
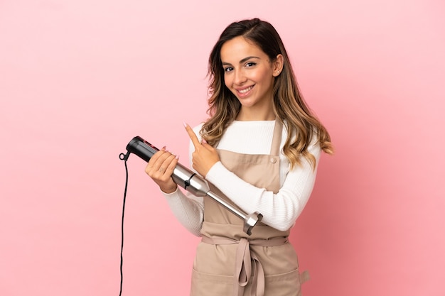
<instances>
[{"instance_id":1,"label":"white ribbed long-sleeve shirt worn under the beige apron","mask_svg":"<svg viewBox=\"0 0 445 296\"><path fill-rule=\"evenodd\" d=\"M217 148L244 154L269 154L274 124L275 121L233 121L227 127ZM199 140L201 126L202 124L193 128ZM283 126L280 151L282 151L286 137L287 131ZM190 165L193 150L193 144L190 143ZM308 150L316 158L318 165L321 148L316 144L316 139L312 141ZM218 187L244 212L259 212L263 215L262 222L264 224L286 231L294 225L296 218L304 209L316 179L316 169L313 170L305 158L301 159L301 165L294 165L292 170L289 169L289 160L283 153L280 153L279 179L281 187L277 194L250 185L227 170L221 162L215 163L205 178ZM204 219L203 197L194 197L188 192L184 194L181 190L176 190L171 194L164 193L164 195L178 221L192 234L200 236Z\"/></svg>"}]
</instances>

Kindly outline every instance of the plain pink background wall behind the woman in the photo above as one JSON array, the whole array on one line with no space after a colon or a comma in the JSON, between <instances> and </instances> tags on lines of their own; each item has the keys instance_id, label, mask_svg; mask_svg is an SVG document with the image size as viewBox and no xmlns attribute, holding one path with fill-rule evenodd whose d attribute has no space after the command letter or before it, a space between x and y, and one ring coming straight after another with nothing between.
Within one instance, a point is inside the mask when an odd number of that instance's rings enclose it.
<instances>
[{"instance_id":1,"label":"plain pink background wall behind the woman","mask_svg":"<svg viewBox=\"0 0 445 296\"><path fill-rule=\"evenodd\" d=\"M304 295L445 295L442 0L0 1L0 295L118 295L118 155L188 163L208 53L254 16L337 151L292 231ZM188 295L198 239L128 165L123 295Z\"/></svg>"}]
</instances>

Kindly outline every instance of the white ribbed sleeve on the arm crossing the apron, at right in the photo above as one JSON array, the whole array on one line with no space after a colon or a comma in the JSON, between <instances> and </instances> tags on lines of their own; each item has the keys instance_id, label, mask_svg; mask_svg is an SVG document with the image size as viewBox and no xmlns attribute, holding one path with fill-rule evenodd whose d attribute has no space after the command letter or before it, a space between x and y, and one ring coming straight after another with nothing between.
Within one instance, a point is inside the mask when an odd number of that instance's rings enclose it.
<instances>
[{"instance_id":1,"label":"white ribbed sleeve on the arm crossing the apron, at right","mask_svg":"<svg viewBox=\"0 0 445 296\"><path fill-rule=\"evenodd\" d=\"M309 146L309 153L316 158L316 165L321 155L318 144ZM277 194L245 182L218 162L209 170L206 179L218 187L232 202L235 202L246 213L259 212L262 222L274 229L286 231L294 226L313 190L316 180L316 169L313 170L306 158L301 165L289 171ZM246 198L249 197L249 198Z\"/></svg>"}]
</instances>

